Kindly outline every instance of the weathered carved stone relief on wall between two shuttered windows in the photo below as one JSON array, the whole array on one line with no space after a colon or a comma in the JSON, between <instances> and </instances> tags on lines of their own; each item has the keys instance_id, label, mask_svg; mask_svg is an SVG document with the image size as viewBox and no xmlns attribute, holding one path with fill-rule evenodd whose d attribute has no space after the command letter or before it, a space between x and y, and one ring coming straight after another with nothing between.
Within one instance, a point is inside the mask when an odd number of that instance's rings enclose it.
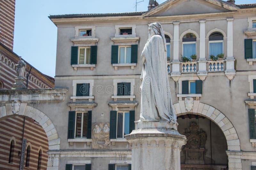
<instances>
[{"instance_id":1,"label":"weathered carved stone relief on wall between two shuttered windows","mask_svg":"<svg viewBox=\"0 0 256 170\"><path fill-rule=\"evenodd\" d=\"M95 123L92 125L92 148L106 149L110 146L109 123Z\"/></svg>"}]
</instances>

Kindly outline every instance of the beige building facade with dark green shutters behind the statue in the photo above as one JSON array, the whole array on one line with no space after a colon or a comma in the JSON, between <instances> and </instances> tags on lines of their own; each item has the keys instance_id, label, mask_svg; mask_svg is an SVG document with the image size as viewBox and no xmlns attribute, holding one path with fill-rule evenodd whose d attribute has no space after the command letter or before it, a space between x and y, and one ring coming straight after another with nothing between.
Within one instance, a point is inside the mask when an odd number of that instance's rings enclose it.
<instances>
[{"instance_id":1,"label":"beige building facade with dark green shutters behind the statue","mask_svg":"<svg viewBox=\"0 0 256 170\"><path fill-rule=\"evenodd\" d=\"M12 100L24 103L18 114L37 119L48 137L50 170L132 169L124 135L140 119L140 54L148 25L159 22L178 131L188 139L181 169L255 168L256 4L150 5L145 12L50 16L58 27L55 89L2 91L2 117L12 114Z\"/></svg>"}]
</instances>

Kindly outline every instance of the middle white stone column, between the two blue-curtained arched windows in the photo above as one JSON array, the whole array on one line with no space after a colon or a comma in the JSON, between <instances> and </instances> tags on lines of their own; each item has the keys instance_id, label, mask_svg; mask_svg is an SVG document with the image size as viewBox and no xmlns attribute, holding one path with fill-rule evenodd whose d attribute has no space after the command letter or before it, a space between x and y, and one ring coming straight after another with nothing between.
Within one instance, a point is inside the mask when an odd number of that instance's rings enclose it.
<instances>
[{"instance_id":1,"label":"middle white stone column, between the two blue-curtained arched windows","mask_svg":"<svg viewBox=\"0 0 256 170\"><path fill-rule=\"evenodd\" d=\"M199 60L198 62L198 72L197 76L200 80L204 80L207 76L206 71L206 63L207 60L205 59L205 20L200 20L200 44L199 44Z\"/></svg>"}]
</instances>

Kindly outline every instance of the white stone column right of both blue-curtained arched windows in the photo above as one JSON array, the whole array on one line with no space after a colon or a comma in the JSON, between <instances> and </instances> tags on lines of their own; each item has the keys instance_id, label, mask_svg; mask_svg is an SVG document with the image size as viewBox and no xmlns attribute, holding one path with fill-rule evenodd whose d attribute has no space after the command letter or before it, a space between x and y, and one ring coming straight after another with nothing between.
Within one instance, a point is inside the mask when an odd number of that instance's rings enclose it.
<instances>
[{"instance_id":1,"label":"white stone column right of both blue-curtained arched windows","mask_svg":"<svg viewBox=\"0 0 256 170\"><path fill-rule=\"evenodd\" d=\"M233 56L233 20L234 18L227 18L228 28L227 28L227 58L226 58L226 70L225 75L229 80L232 80L236 75L235 70L235 58Z\"/></svg>"}]
</instances>

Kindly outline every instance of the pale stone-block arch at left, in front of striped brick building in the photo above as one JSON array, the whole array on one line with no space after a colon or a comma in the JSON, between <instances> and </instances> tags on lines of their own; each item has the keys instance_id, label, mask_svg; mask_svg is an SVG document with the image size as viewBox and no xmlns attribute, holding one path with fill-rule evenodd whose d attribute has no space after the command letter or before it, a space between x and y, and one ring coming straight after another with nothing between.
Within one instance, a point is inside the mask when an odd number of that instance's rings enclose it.
<instances>
[{"instance_id":1,"label":"pale stone-block arch at left, in front of striped brick building","mask_svg":"<svg viewBox=\"0 0 256 170\"><path fill-rule=\"evenodd\" d=\"M5 106L0 107L0 121L8 117L14 117L18 115L30 117L38 122L44 129L48 138L49 150L60 150L60 138L58 132L54 124L46 114L44 114L40 110L37 110L34 107L27 106L27 103L20 104L20 111L18 112L18 114L13 114L11 108L12 103L6 103Z\"/></svg>"}]
</instances>

